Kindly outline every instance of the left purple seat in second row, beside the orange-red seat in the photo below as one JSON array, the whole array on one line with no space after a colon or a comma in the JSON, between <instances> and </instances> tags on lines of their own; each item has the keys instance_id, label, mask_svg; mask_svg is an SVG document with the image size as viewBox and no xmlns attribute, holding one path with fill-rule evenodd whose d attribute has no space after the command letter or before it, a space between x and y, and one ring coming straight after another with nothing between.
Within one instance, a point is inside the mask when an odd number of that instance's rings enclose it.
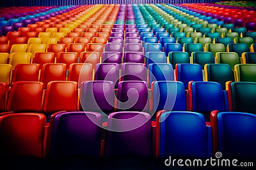
<instances>
[{"instance_id":1,"label":"left purple seat in second row, beside the orange-red seat","mask_svg":"<svg viewBox=\"0 0 256 170\"><path fill-rule=\"evenodd\" d=\"M84 81L81 90L81 106L84 111L109 114L114 111L115 87L112 81ZM106 115L102 114L102 118Z\"/></svg>"}]
</instances>

